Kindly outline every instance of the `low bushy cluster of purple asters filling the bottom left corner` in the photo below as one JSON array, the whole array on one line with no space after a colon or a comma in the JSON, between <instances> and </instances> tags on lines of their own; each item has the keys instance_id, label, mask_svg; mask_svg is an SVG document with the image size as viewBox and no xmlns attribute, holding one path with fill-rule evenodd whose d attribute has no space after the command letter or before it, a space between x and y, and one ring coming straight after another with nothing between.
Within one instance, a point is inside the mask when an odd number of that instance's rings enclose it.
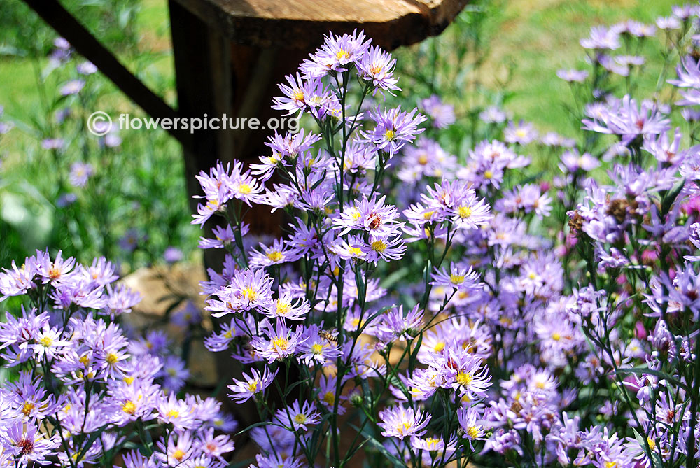
<instances>
[{"instance_id":1,"label":"low bushy cluster of purple asters filling the bottom left corner","mask_svg":"<svg viewBox=\"0 0 700 468\"><path fill-rule=\"evenodd\" d=\"M36 252L0 273L3 299L28 300L0 322L17 375L0 388L1 466L226 466L235 420L214 398L178 396L189 374L164 333L119 325L140 297L115 271Z\"/></svg>"}]
</instances>

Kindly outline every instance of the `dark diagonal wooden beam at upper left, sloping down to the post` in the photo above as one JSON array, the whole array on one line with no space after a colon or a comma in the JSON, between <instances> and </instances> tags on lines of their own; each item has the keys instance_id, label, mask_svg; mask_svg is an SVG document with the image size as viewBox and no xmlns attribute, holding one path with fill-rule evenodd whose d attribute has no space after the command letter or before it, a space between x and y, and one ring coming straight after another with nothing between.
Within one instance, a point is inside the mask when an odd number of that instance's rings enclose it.
<instances>
[{"instance_id":1,"label":"dark diagonal wooden beam at upper left, sloping down to the post","mask_svg":"<svg viewBox=\"0 0 700 468\"><path fill-rule=\"evenodd\" d=\"M24 0L43 18L50 27L66 39L80 55L90 60L104 76L109 78L137 106L153 118L179 117L179 113L168 106L153 91L131 73L107 48L97 41L83 24L80 24L58 0ZM168 133L186 144L186 132L170 129Z\"/></svg>"}]
</instances>

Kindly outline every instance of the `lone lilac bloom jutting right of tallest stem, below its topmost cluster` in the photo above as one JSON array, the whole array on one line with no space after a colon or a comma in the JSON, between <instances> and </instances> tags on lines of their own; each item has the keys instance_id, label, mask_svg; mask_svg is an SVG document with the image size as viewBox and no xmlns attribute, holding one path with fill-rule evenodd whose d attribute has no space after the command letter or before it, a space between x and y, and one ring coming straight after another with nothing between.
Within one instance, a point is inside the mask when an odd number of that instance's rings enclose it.
<instances>
[{"instance_id":1,"label":"lone lilac bloom jutting right of tallest stem, below its topmost cluster","mask_svg":"<svg viewBox=\"0 0 700 468\"><path fill-rule=\"evenodd\" d=\"M376 125L368 133L361 132L363 141L372 143L378 150L388 153L389 157L393 157L406 143L412 143L425 130L418 126L426 121L426 117L416 108L402 112L401 106L388 111L377 107L369 115Z\"/></svg>"}]
</instances>

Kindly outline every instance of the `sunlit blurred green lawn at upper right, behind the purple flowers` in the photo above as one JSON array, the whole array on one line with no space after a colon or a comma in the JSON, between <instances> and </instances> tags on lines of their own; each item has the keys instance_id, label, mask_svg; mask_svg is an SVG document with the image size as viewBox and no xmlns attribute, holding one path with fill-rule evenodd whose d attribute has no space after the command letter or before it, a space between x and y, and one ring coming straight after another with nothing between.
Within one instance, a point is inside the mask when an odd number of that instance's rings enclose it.
<instances>
[{"instance_id":1,"label":"sunlit blurred green lawn at upper right, behind the purple flowers","mask_svg":"<svg viewBox=\"0 0 700 468\"><path fill-rule=\"evenodd\" d=\"M510 83L514 96L507 109L516 117L535 122L542 130L570 134L573 129L566 111L556 102L570 101L570 90L556 78L556 71L584 68L580 38L588 36L596 24L610 25L626 19L654 22L658 16L670 15L675 4L678 1L510 1L485 68L502 73L504 64L514 64ZM640 97L650 97L661 66L658 55L647 56L647 61L647 80L640 85Z\"/></svg>"}]
</instances>

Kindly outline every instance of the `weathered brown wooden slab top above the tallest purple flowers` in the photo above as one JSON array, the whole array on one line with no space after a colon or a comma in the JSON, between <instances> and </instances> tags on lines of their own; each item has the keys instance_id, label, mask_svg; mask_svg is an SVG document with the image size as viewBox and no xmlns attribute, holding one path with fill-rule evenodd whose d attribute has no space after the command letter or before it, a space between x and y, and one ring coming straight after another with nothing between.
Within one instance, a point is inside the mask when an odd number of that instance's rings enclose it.
<instances>
[{"instance_id":1,"label":"weathered brown wooden slab top above the tallest purple flowers","mask_svg":"<svg viewBox=\"0 0 700 468\"><path fill-rule=\"evenodd\" d=\"M442 30L468 0L176 0L234 43L308 50L323 34L364 29L386 49Z\"/></svg>"}]
</instances>

